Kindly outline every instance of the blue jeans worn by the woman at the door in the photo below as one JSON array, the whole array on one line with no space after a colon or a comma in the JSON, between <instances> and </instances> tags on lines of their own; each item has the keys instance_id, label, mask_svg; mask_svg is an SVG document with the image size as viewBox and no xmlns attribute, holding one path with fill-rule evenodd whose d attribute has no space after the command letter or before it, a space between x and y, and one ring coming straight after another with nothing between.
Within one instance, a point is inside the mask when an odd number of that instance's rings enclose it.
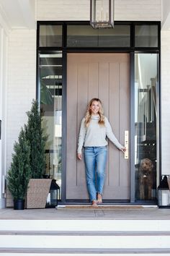
<instances>
[{"instance_id":1,"label":"blue jeans worn by the woman at the door","mask_svg":"<svg viewBox=\"0 0 170 256\"><path fill-rule=\"evenodd\" d=\"M85 147L84 161L86 165L86 184L90 200L97 200L97 193L102 195L105 167L107 161L107 146Z\"/></svg>"}]
</instances>

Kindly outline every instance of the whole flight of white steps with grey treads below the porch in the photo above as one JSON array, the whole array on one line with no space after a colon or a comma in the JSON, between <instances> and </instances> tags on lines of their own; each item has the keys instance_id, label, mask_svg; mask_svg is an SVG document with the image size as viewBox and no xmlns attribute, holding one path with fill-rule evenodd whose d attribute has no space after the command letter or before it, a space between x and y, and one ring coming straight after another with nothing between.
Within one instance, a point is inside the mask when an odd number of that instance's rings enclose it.
<instances>
[{"instance_id":1,"label":"whole flight of white steps with grey treads below the porch","mask_svg":"<svg viewBox=\"0 0 170 256\"><path fill-rule=\"evenodd\" d=\"M170 255L169 220L0 220L0 255Z\"/></svg>"}]
</instances>

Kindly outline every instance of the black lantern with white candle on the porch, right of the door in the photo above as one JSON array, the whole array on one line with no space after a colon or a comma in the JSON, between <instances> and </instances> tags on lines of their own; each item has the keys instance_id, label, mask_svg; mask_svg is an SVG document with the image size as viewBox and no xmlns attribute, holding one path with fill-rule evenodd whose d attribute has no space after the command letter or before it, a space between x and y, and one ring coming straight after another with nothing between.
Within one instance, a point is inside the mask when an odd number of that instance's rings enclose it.
<instances>
[{"instance_id":1,"label":"black lantern with white candle on the porch, right of the door","mask_svg":"<svg viewBox=\"0 0 170 256\"><path fill-rule=\"evenodd\" d=\"M158 186L158 207L170 208L169 175L162 175Z\"/></svg>"}]
</instances>

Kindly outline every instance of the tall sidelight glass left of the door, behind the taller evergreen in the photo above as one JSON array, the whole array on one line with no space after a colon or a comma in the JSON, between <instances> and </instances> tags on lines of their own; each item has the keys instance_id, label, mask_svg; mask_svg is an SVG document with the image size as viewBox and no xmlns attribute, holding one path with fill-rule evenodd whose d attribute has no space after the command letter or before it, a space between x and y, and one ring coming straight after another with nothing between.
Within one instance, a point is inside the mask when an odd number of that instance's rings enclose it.
<instances>
[{"instance_id":1,"label":"tall sidelight glass left of the door, behind the taller evergreen","mask_svg":"<svg viewBox=\"0 0 170 256\"><path fill-rule=\"evenodd\" d=\"M40 54L40 108L48 135L45 173L61 187L62 52Z\"/></svg>"}]
</instances>

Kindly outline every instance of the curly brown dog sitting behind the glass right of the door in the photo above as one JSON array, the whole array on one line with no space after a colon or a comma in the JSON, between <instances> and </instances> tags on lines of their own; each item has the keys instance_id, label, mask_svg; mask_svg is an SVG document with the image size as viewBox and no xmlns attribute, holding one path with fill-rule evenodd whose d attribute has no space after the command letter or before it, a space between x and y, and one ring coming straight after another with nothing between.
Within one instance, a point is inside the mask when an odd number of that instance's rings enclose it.
<instances>
[{"instance_id":1,"label":"curly brown dog sitting behind the glass right of the door","mask_svg":"<svg viewBox=\"0 0 170 256\"><path fill-rule=\"evenodd\" d=\"M140 200L151 200L153 188L153 163L150 159L141 160L139 168L139 195Z\"/></svg>"}]
</instances>

